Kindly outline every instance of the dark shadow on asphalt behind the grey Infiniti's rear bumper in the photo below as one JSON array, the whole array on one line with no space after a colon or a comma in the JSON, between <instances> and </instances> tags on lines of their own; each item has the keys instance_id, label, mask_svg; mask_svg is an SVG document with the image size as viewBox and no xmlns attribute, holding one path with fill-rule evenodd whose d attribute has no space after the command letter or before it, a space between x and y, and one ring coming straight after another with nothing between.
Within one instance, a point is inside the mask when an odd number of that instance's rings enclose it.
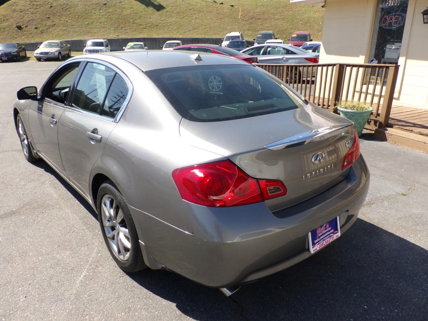
<instances>
[{"instance_id":1,"label":"dark shadow on asphalt behind the grey Infiniti's rear bumper","mask_svg":"<svg viewBox=\"0 0 428 321\"><path fill-rule=\"evenodd\" d=\"M323 251L231 297L161 270L129 274L195 320L426 320L428 251L357 219Z\"/></svg>"}]
</instances>

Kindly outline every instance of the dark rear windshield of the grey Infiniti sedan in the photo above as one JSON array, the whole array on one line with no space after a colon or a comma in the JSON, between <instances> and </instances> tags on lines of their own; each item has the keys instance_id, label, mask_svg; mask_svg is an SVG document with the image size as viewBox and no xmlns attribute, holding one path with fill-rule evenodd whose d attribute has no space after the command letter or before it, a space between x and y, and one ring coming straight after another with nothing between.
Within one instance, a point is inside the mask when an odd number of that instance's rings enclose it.
<instances>
[{"instance_id":1,"label":"dark rear windshield of the grey Infiniti sedan","mask_svg":"<svg viewBox=\"0 0 428 321\"><path fill-rule=\"evenodd\" d=\"M185 119L218 122L304 105L278 79L251 65L164 68L145 74Z\"/></svg>"}]
</instances>

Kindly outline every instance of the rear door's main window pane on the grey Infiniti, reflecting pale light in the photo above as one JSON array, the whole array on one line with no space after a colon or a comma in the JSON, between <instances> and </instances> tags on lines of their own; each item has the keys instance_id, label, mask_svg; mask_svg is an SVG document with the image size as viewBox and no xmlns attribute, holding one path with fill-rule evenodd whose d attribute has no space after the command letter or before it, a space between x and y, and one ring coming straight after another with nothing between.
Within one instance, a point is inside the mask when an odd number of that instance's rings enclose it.
<instances>
[{"instance_id":1,"label":"rear door's main window pane on the grey Infiniti, reflecting pale light","mask_svg":"<svg viewBox=\"0 0 428 321\"><path fill-rule=\"evenodd\" d=\"M115 73L105 65L88 62L77 83L72 106L99 114Z\"/></svg>"}]
</instances>

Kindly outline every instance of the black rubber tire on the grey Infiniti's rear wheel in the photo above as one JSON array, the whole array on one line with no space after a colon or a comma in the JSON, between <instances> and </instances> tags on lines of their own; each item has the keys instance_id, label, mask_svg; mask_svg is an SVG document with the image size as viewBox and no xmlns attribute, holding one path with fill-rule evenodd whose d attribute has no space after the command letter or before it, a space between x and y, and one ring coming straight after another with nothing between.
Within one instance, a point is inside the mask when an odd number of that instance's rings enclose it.
<instances>
[{"instance_id":1,"label":"black rubber tire on the grey Infiniti's rear wheel","mask_svg":"<svg viewBox=\"0 0 428 321\"><path fill-rule=\"evenodd\" d=\"M104 196L106 196L107 198L110 196L112 197L114 202L116 202L116 204L113 202L113 205L112 205L113 211L115 206L118 206L119 210L122 211L123 220L125 220L125 225L119 224L119 226L124 226L126 229L128 229L129 243L131 244L131 247L129 248L129 257L126 260L122 260L117 256L117 254L112 249L112 245L110 245L109 239L107 238L106 228L104 227L104 219L103 219L103 215L101 214L101 211L104 211L104 209L102 209L102 204L101 204L104 199ZM131 212L129 211L128 204L126 203L125 199L123 198L119 190L110 180L105 181L103 184L101 184L100 188L98 189L97 212L98 212L98 221L100 223L101 233L103 235L104 242L110 252L111 257L119 266L119 268L121 268L125 272L131 272L131 273L137 272L139 270L146 268L147 265L144 262L143 254L141 253L137 230L135 229L134 220L131 217ZM116 215L116 217L118 216L119 215ZM118 226L117 223L120 223L114 220L112 222L113 222L113 225L116 224L116 226ZM114 226L111 226L110 228L110 230L112 230L113 232L116 229L117 227L114 227ZM118 233L116 235L118 235ZM116 238L116 235L114 236L115 238Z\"/></svg>"}]
</instances>

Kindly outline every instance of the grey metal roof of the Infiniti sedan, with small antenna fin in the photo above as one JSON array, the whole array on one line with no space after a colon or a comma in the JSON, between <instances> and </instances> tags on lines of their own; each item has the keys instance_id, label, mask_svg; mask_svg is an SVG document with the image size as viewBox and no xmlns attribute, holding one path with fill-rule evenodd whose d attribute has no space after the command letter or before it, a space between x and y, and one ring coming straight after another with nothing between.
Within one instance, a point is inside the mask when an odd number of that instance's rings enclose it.
<instances>
[{"instance_id":1,"label":"grey metal roof of the Infiniti sedan, with small antenna fin","mask_svg":"<svg viewBox=\"0 0 428 321\"><path fill-rule=\"evenodd\" d=\"M202 58L202 60L197 61L198 65L250 65L248 62L230 56L179 50L116 51L93 53L91 57L96 59L97 57L113 56L128 61L143 71L149 71L162 68L194 66L196 61L191 56L195 54L199 54ZM74 60L75 58L72 59ZM109 59L105 60L109 61Z\"/></svg>"}]
</instances>

